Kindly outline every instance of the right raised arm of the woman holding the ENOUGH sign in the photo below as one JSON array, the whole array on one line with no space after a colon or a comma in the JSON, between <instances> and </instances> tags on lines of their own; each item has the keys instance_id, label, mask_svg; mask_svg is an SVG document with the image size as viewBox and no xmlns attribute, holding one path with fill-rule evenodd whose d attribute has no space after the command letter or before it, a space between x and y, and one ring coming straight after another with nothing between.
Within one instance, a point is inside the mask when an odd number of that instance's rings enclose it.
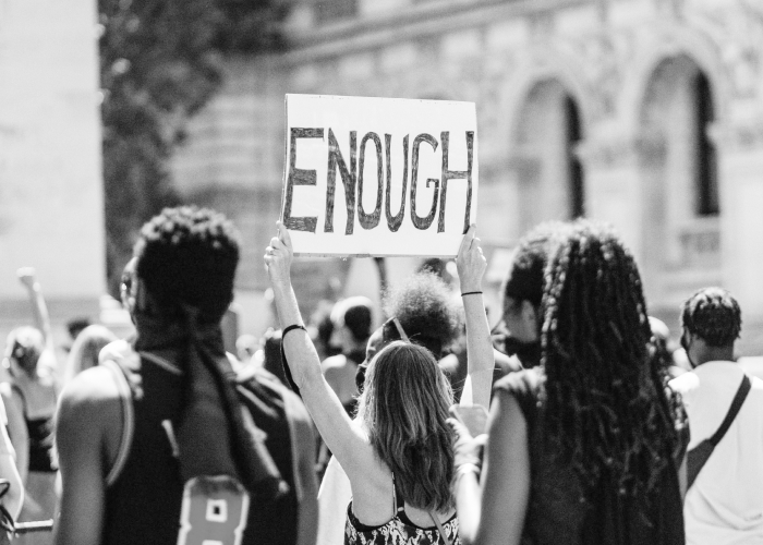
<instances>
[{"instance_id":1,"label":"right raised arm of the woman holding the ENOUGH sign","mask_svg":"<svg viewBox=\"0 0 763 545\"><path fill-rule=\"evenodd\" d=\"M467 316L468 375L461 395L461 404L480 404L488 408L495 354L482 296L482 277L485 275L487 261L482 255L475 225L472 225L463 235L456 265L461 284L463 311Z\"/></svg>"}]
</instances>

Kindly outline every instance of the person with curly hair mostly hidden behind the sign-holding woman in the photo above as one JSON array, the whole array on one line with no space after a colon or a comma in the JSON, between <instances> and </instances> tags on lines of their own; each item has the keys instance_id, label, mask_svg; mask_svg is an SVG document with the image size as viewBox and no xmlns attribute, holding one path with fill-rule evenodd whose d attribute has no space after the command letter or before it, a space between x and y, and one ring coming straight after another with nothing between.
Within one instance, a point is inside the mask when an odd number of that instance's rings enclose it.
<instances>
[{"instance_id":1,"label":"person with curly hair mostly hidden behind the sign-holding woman","mask_svg":"<svg viewBox=\"0 0 763 545\"><path fill-rule=\"evenodd\" d=\"M360 392L363 391L368 364L387 344L399 340L410 341L425 347L436 360L440 360L459 331L458 307L452 302L452 293L448 286L431 271L420 271L388 290L384 300L384 311L390 318L371 335L365 360L358 367L355 382ZM350 480L332 457L325 469L318 493L319 545L343 543L347 505L350 499Z\"/></svg>"}]
</instances>

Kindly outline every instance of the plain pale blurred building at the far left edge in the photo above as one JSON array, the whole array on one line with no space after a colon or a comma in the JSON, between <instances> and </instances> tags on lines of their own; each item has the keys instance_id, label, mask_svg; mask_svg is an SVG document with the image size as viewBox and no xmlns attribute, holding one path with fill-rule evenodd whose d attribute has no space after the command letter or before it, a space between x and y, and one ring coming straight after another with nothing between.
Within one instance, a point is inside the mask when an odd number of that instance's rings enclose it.
<instances>
[{"instance_id":1,"label":"plain pale blurred building at the far left edge","mask_svg":"<svg viewBox=\"0 0 763 545\"><path fill-rule=\"evenodd\" d=\"M0 346L11 327L33 323L21 266L36 268L55 326L98 318L106 271L96 23L93 0L0 0Z\"/></svg>"}]
</instances>

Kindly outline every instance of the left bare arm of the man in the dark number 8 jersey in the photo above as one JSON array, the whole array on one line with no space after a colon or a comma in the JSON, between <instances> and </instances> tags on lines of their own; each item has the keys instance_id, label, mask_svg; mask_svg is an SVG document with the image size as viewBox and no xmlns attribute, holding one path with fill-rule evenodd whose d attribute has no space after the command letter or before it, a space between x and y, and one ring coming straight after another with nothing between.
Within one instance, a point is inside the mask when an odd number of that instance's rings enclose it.
<instances>
[{"instance_id":1,"label":"left bare arm of the man in the dark number 8 jersey","mask_svg":"<svg viewBox=\"0 0 763 545\"><path fill-rule=\"evenodd\" d=\"M56 443L63 491L57 545L98 545L102 537L104 429L114 412L108 401L94 399L87 378L89 373L75 377L63 390L58 409Z\"/></svg>"}]
</instances>

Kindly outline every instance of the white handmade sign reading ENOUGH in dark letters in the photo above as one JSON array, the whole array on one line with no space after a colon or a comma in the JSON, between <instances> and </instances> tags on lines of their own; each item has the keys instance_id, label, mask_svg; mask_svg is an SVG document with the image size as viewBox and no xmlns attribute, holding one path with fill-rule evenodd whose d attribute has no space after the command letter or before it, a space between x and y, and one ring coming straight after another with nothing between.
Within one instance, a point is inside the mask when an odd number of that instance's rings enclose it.
<instances>
[{"instance_id":1,"label":"white handmade sign reading ENOUGH in dark letters","mask_svg":"<svg viewBox=\"0 0 763 545\"><path fill-rule=\"evenodd\" d=\"M452 257L476 221L473 102L287 95L296 255Z\"/></svg>"}]
</instances>

